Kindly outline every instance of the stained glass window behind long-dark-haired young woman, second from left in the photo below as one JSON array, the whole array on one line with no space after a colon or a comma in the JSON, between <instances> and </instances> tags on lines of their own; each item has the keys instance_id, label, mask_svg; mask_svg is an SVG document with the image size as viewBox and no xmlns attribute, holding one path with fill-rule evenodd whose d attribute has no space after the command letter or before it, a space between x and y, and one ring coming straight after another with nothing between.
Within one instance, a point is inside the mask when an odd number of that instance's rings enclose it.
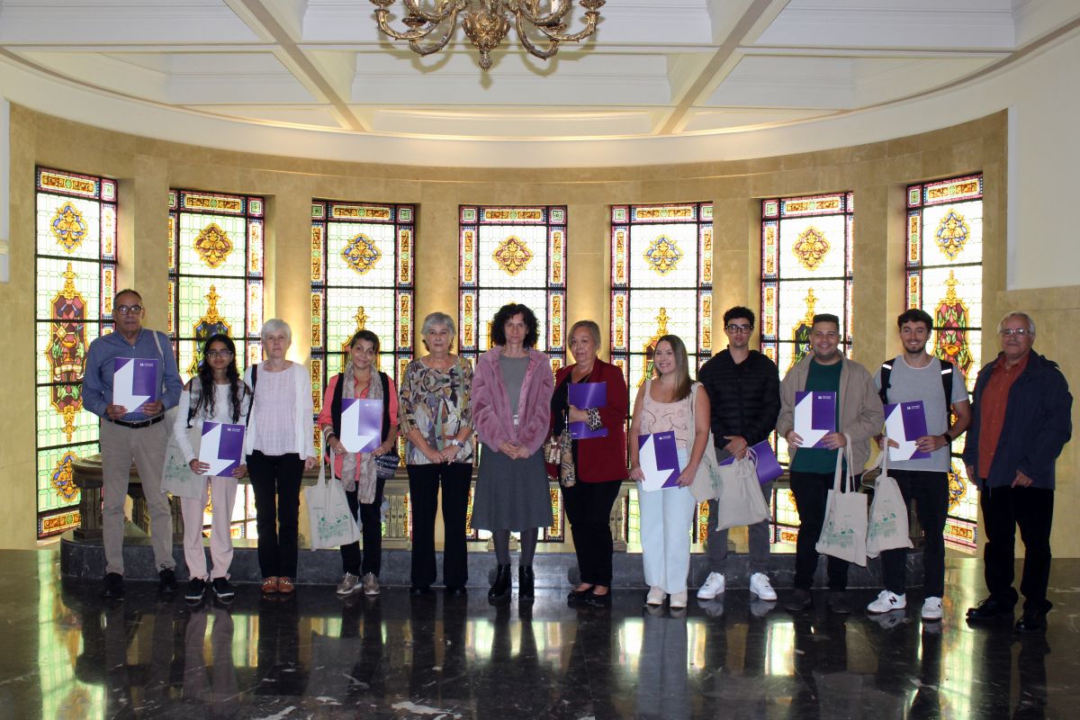
<instances>
[{"instance_id":1,"label":"stained glass window behind long-dark-haired young woman, second from left","mask_svg":"<svg viewBox=\"0 0 1080 720\"><path fill-rule=\"evenodd\" d=\"M237 344L237 366L262 358L262 198L168 191L168 335L180 378L199 371L201 345L222 332ZM241 485L231 533L255 538L255 498ZM207 508L205 525L210 526Z\"/></svg>"}]
</instances>

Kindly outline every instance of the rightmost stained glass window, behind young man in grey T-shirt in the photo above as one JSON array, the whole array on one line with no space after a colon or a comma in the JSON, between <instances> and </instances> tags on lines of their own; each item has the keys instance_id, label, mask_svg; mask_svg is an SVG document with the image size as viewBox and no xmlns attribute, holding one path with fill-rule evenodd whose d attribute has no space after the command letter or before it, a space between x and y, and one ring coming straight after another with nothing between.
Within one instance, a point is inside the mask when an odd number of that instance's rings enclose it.
<instances>
[{"instance_id":1,"label":"rightmost stained glass window, behind young man in grey T-shirt","mask_svg":"<svg viewBox=\"0 0 1080 720\"><path fill-rule=\"evenodd\" d=\"M983 347L983 176L969 175L907 188L905 307L934 320L933 354L954 363L968 391L975 386ZM974 552L978 491L968 481L953 443L945 541Z\"/></svg>"}]
</instances>

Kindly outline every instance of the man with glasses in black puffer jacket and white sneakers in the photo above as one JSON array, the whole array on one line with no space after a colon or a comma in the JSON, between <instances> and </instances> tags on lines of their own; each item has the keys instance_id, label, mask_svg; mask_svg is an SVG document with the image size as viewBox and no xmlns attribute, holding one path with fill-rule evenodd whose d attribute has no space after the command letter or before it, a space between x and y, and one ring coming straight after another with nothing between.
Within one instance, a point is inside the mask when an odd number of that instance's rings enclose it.
<instances>
[{"instance_id":1,"label":"man with glasses in black puffer jacket and white sneakers","mask_svg":"<svg viewBox=\"0 0 1080 720\"><path fill-rule=\"evenodd\" d=\"M724 332L728 349L716 354L702 366L698 379L708 393L712 408L713 437L716 459L730 456L743 458L746 450L761 440L777 426L780 415L780 372L771 359L750 349L754 331L754 311L731 308L724 313ZM766 503L772 495L772 483L761 486ZM708 502L710 518L717 513L716 501ZM750 535L750 589L761 600L777 599L769 583L769 520L747 528ZM698 590L702 600L711 600L724 593L724 570L728 558L728 531L716 530L716 522L708 524L708 578Z\"/></svg>"}]
</instances>

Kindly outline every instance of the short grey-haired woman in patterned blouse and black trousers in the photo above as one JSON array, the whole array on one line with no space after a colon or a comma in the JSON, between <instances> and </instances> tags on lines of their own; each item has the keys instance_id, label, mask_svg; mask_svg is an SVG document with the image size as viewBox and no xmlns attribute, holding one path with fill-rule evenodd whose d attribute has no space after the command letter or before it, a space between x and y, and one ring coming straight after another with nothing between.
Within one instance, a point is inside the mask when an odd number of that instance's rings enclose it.
<instances>
[{"instance_id":1,"label":"short grey-haired woman in patterned blouse and black trousers","mask_svg":"<svg viewBox=\"0 0 1080 720\"><path fill-rule=\"evenodd\" d=\"M399 422L407 443L405 463L413 503L413 595L431 592L435 582L435 512L443 484L443 583L449 595L464 595L465 512L472 484L473 369L450 353L454 320L441 312L423 318L428 354L405 368Z\"/></svg>"}]
</instances>

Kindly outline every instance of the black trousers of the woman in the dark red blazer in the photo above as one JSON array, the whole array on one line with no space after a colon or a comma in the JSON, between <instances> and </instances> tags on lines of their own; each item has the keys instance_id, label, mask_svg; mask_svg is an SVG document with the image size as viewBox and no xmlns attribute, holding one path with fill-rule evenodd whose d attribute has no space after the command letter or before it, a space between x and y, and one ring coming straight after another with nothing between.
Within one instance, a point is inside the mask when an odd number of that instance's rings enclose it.
<instances>
[{"instance_id":1,"label":"black trousers of the woman in the dark red blazer","mask_svg":"<svg viewBox=\"0 0 1080 720\"><path fill-rule=\"evenodd\" d=\"M611 586L611 506L622 480L578 483L563 488L566 519L570 522L573 552L578 554L581 582Z\"/></svg>"}]
</instances>

